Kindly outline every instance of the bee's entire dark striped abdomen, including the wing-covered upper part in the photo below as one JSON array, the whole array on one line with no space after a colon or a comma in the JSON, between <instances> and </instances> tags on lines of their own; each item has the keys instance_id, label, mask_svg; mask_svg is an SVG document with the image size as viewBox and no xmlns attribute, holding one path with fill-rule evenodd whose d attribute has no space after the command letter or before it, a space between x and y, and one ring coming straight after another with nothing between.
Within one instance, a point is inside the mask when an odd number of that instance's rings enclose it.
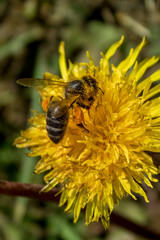
<instances>
[{"instance_id":1,"label":"bee's entire dark striped abdomen, including the wing-covered upper part","mask_svg":"<svg viewBox=\"0 0 160 240\"><path fill-rule=\"evenodd\" d=\"M64 136L69 117L68 110L69 107L64 101L51 102L48 108L46 129L49 138L54 143L59 143Z\"/></svg>"}]
</instances>

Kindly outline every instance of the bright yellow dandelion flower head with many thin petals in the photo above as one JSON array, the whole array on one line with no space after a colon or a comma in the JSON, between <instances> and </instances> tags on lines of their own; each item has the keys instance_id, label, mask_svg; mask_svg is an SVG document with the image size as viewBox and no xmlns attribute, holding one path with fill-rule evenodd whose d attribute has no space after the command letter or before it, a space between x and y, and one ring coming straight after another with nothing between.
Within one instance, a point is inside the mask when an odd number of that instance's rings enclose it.
<instances>
[{"instance_id":1,"label":"bright yellow dandelion flower head with many thin petals","mask_svg":"<svg viewBox=\"0 0 160 240\"><path fill-rule=\"evenodd\" d=\"M93 77L100 91L90 110L83 109L88 131L73 121L70 109L67 130L62 141L54 144L47 135L46 113L35 113L29 120L31 127L15 140L19 148L29 147L29 156L41 156L35 172L48 171L44 191L61 184L60 206L74 213L74 222L85 208L86 224L101 219L105 228L114 204L126 195L136 199L140 194L148 202L141 187L145 182L156 182L158 173L146 151L160 152L160 70L147 78L143 75L159 57L136 59L146 40L131 49L118 66L109 65L109 59L122 44L124 37L102 54L95 66L89 53L89 63L71 63L67 69L64 43L60 44L60 70L65 82L71 79ZM61 81L50 73L45 79ZM157 83L152 86L153 83ZM63 97L61 88L48 85L39 89L43 108L51 96Z\"/></svg>"}]
</instances>

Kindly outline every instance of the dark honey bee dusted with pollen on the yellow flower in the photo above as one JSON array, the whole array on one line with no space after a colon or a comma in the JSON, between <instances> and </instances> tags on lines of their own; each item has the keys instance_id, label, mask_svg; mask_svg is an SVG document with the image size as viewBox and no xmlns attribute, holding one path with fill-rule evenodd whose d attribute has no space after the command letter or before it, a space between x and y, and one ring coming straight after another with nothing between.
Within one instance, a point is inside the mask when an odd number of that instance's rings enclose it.
<instances>
[{"instance_id":1,"label":"dark honey bee dusted with pollen on the yellow flower","mask_svg":"<svg viewBox=\"0 0 160 240\"><path fill-rule=\"evenodd\" d=\"M82 79L72 79L69 82L24 78L17 80L17 83L38 89L47 85L64 88L64 98L55 100L54 96L51 96L47 107L46 130L49 138L55 144L58 144L63 139L68 124L70 108L73 109L73 119L76 125L87 130L83 125L84 117L81 108L89 110L95 101L99 89L95 78L83 76Z\"/></svg>"}]
</instances>

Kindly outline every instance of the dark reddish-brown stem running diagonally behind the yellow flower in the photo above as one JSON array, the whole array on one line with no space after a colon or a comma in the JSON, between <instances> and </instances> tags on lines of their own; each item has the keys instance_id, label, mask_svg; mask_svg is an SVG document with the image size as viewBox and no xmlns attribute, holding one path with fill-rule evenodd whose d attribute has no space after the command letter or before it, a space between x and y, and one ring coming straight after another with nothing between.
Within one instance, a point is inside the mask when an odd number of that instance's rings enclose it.
<instances>
[{"instance_id":1,"label":"dark reddish-brown stem running diagonally behind the yellow flower","mask_svg":"<svg viewBox=\"0 0 160 240\"><path fill-rule=\"evenodd\" d=\"M28 184L28 183L19 183L19 182L8 182L0 180L0 194L9 195L9 196L19 196L38 199L42 201L51 201L58 202L59 195L55 196L58 193L59 189L52 189L49 192L40 192L44 186L38 184ZM152 230L149 230L148 227L141 226L127 218L120 216L117 213L111 214L111 223L116 224L122 228L125 228L135 234L138 234L146 239L159 240L160 234Z\"/></svg>"}]
</instances>

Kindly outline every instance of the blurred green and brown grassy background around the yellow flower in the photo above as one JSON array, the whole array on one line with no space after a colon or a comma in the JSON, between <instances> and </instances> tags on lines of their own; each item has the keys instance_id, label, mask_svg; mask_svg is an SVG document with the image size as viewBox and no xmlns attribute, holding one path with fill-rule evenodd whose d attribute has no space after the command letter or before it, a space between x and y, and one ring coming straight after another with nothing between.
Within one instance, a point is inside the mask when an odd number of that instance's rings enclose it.
<instances>
[{"instance_id":1,"label":"blurred green and brown grassy background around the yellow flower","mask_svg":"<svg viewBox=\"0 0 160 240\"><path fill-rule=\"evenodd\" d=\"M33 174L37 159L13 146L20 130L27 127L31 109L41 111L39 95L16 84L16 79L59 74L58 46L66 43L71 61L86 61L86 50L95 63L100 52L125 35L116 64L145 35L148 46L140 58L160 55L160 1L156 0L0 0L0 179L43 184ZM147 74L160 67L157 64ZM155 164L158 156L155 156ZM145 187L145 186L144 186ZM149 204L129 197L115 212L159 231L160 184L146 188ZM109 231L100 223L77 224L56 203L0 196L0 240L140 240L111 222Z\"/></svg>"}]
</instances>

